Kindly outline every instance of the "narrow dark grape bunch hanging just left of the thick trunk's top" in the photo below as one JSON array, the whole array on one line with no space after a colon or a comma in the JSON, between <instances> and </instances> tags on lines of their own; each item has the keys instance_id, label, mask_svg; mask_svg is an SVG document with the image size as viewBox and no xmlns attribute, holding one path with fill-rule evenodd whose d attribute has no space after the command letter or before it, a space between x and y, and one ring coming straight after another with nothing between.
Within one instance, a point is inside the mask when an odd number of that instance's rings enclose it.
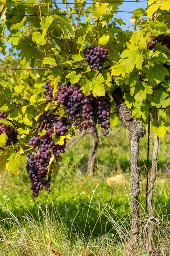
<instances>
[{"instance_id":1,"label":"narrow dark grape bunch hanging just left of the thick trunk's top","mask_svg":"<svg viewBox=\"0 0 170 256\"><path fill-rule=\"evenodd\" d=\"M102 133L104 136L106 136L109 131L108 128L110 128L110 121L111 118L111 97L105 93L105 96L98 97L98 100L96 101L96 111L97 111L97 117L99 119L98 124L104 128L102 130Z\"/></svg>"}]
</instances>

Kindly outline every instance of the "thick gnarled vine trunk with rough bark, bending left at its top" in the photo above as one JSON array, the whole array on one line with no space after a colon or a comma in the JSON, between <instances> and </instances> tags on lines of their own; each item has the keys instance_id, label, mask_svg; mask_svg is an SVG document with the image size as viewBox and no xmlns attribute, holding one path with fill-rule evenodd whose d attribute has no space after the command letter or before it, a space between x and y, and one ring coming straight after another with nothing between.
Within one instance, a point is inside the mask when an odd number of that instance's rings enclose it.
<instances>
[{"instance_id":1,"label":"thick gnarled vine trunk with rough bark, bending left at its top","mask_svg":"<svg viewBox=\"0 0 170 256\"><path fill-rule=\"evenodd\" d=\"M120 89L114 90L113 99L117 105L116 109L119 113L119 117L123 125L129 130L129 140L130 140L130 166L131 166L131 204L132 204L132 225L131 225L131 237L129 242L128 254L133 255L133 248L137 245L138 235L139 235L139 181L140 172L138 166L139 160L139 139L145 135L145 128L132 116L131 111L126 107L122 99L122 91Z\"/></svg>"}]
</instances>

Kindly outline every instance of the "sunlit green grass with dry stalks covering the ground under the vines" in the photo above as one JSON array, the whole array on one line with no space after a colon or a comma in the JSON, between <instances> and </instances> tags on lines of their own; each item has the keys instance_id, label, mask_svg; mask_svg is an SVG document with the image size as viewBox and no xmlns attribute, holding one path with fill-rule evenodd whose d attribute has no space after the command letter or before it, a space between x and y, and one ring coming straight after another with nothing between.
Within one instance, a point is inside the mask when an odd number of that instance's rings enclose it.
<instances>
[{"instance_id":1,"label":"sunlit green grass with dry stalks covering the ground under the vines","mask_svg":"<svg viewBox=\"0 0 170 256\"><path fill-rule=\"evenodd\" d=\"M91 180L85 175L84 167L91 138L86 135L73 147L70 146L63 154L59 174L53 178L51 195L42 191L35 203L31 201L26 170L17 177L5 173L0 183L0 255L127 255L131 223L127 134L120 125L111 131L108 138L99 133L95 175ZM136 256L148 255L144 250L149 219L144 211L146 140L147 136L141 140L140 145L141 230ZM155 223L153 255L169 256L168 169L162 176L164 161L170 152L169 135L160 139L159 152L158 178L153 198L155 217L158 219ZM150 159L151 155L152 148ZM126 179L108 185L108 177L120 174L125 175Z\"/></svg>"}]
</instances>

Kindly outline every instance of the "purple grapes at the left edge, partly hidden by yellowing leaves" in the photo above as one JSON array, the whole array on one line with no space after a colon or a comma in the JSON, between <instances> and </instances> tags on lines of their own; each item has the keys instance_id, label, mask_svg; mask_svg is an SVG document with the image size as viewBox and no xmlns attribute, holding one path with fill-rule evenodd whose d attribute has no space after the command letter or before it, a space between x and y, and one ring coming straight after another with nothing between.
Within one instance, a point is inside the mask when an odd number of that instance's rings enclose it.
<instances>
[{"instance_id":1,"label":"purple grapes at the left edge, partly hidden by yellowing leaves","mask_svg":"<svg viewBox=\"0 0 170 256\"><path fill-rule=\"evenodd\" d=\"M8 120L8 115L4 111L0 111L0 119ZM17 129L11 128L10 125L1 123L0 124L0 133L5 133L8 136L6 146L10 146L11 143L15 144L17 140Z\"/></svg>"}]
</instances>

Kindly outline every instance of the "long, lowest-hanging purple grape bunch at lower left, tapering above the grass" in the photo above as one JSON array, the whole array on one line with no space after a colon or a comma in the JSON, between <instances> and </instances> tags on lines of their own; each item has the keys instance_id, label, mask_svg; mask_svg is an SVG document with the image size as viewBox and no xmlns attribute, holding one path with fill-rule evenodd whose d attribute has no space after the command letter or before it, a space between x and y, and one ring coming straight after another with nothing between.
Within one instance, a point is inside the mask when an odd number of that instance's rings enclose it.
<instances>
[{"instance_id":1,"label":"long, lowest-hanging purple grape bunch at lower left, tapering above the grass","mask_svg":"<svg viewBox=\"0 0 170 256\"><path fill-rule=\"evenodd\" d=\"M29 141L29 145L34 148L37 147L38 154L27 154L28 165L26 167L31 180L31 190L33 190L32 199L35 201L35 198L39 195L40 190L45 187L45 191L50 193L50 181L51 176L46 180L48 173L48 164L51 158L51 152L53 152L56 160L60 153L65 152L66 140L64 145L58 145L54 142L52 138L54 134L54 126L56 128L57 135L64 135L68 131L67 125L62 120L54 120L53 122L48 122L38 128L38 132L43 129L46 130L44 136L38 136L36 133Z\"/></svg>"}]
</instances>

